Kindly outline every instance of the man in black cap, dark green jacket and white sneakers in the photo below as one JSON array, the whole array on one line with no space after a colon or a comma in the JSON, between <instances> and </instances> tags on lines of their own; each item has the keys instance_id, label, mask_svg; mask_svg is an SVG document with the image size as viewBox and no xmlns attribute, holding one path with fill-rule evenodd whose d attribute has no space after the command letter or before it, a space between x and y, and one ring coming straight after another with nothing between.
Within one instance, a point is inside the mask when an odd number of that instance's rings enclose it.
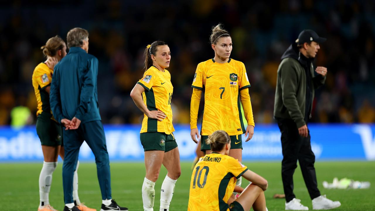
<instances>
[{"instance_id":1,"label":"man in black cap, dark green jacket and white sneakers","mask_svg":"<svg viewBox=\"0 0 375 211\"><path fill-rule=\"evenodd\" d=\"M300 163L303 179L312 199L313 209L332 209L340 202L321 196L315 173L315 155L311 150L307 122L311 118L314 89L324 84L327 68L312 62L326 41L313 30L303 30L295 43L285 51L278 69L273 114L281 131L282 182L285 193L285 210L308 210L293 193L293 173Z\"/></svg>"}]
</instances>

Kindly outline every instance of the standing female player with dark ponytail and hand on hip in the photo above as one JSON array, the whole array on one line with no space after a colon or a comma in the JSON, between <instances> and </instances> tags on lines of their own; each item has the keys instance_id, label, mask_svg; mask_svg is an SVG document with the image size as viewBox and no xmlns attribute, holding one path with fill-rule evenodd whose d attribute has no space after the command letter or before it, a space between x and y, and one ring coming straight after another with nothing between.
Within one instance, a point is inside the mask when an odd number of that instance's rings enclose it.
<instances>
[{"instance_id":1,"label":"standing female player with dark ponytail and hand on hip","mask_svg":"<svg viewBox=\"0 0 375 211\"><path fill-rule=\"evenodd\" d=\"M147 45L144 52L145 73L130 96L144 113L140 139L144 149L146 176L142 185L143 208L152 211L155 182L163 164L168 174L160 192L160 211L168 211L175 183L181 175L180 153L173 136L171 99L173 86L169 67L171 52L163 41Z\"/></svg>"}]
</instances>

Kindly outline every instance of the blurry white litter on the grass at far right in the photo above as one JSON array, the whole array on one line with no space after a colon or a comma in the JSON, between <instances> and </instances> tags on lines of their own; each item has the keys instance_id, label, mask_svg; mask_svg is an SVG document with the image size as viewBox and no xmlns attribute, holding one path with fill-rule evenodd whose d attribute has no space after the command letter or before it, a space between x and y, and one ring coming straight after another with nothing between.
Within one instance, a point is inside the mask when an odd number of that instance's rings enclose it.
<instances>
[{"instance_id":1,"label":"blurry white litter on the grass at far right","mask_svg":"<svg viewBox=\"0 0 375 211\"><path fill-rule=\"evenodd\" d=\"M353 179L342 178L338 179L337 177L333 178L333 182L329 183L323 181L323 187L327 189L366 189L370 188L370 182L368 181L354 181Z\"/></svg>"}]
</instances>

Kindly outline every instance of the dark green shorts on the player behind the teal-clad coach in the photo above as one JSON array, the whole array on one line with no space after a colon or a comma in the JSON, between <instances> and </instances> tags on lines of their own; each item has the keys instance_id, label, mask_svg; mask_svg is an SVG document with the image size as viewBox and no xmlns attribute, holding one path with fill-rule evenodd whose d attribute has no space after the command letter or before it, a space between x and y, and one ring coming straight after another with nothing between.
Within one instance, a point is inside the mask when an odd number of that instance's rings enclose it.
<instances>
[{"instance_id":1,"label":"dark green shorts on the player behind the teal-clad coach","mask_svg":"<svg viewBox=\"0 0 375 211\"><path fill-rule=\"evenodd\" d=\"M41 113L36 120L36 133L42 145L59 146L63 142L63 128L50 115Z\"/></svg>"}]
</instances>

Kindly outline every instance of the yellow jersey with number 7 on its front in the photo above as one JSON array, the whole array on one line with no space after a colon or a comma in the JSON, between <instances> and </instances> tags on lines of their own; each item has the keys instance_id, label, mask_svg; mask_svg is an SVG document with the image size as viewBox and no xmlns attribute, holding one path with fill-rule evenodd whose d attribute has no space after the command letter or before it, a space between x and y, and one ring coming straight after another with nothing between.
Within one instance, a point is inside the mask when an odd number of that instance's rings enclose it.
<instances>
[{"instance_id":1,"label":"yellow jersey with number 7 on its front","mask_svg":"<svg viewBox=\"0 0 375 211\"><path fill-rule=\"evenodd\" d=\"M246 132L240 90L250 87L245 65L234 59L217 63L214 59L198 64L192 87L204 91L201 135L224 130L229 136Z\"/></svg>"}]
</instances>

